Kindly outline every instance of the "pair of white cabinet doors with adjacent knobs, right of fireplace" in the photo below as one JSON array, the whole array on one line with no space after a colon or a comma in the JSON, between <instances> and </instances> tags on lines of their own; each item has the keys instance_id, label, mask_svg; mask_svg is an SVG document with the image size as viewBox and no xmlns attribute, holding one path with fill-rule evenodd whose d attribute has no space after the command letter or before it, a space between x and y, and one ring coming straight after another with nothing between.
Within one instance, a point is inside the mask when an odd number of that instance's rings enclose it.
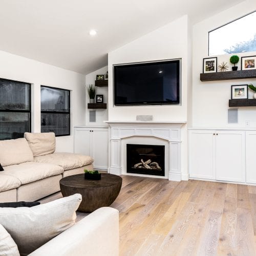
<instances>
[{"instance_id":1,"label":"pair of white cabinet doors with adjacent knobs, right of fireplace","mask_svg":"<svg viewBox=\"0 0 256 256\"><path fill-rule=\"evenodd\" d=\"M188 156L190 178L245 182L245 131L190 130Z\"/></svg>"}]
</instances>

